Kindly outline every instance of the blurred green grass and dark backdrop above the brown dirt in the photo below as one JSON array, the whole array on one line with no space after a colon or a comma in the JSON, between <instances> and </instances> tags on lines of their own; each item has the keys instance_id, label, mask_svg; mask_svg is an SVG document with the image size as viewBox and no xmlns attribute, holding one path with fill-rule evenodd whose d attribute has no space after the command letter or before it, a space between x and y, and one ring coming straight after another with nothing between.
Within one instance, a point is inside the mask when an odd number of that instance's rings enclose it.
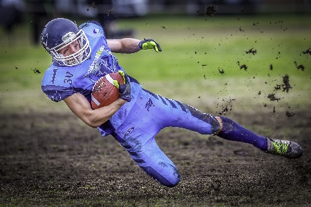
<instances>
[{"instance_id":1,"label":"blurred green grass and dark backdrop above the brown dirt","mask_svg":"<svg viewBox=\"0 0 311 207\"><path fill-rule=\"evenodd\" d=\"M41 92L52 61L41 30L57 17L98 21L110 39L156 39L162 52L115 56L165 97L209 112L232 99L234 111L310 111L311 0L0 0L0 113L68 111ZM292 90L276 93L285 74Z\"/></svg>"}]
</instances>

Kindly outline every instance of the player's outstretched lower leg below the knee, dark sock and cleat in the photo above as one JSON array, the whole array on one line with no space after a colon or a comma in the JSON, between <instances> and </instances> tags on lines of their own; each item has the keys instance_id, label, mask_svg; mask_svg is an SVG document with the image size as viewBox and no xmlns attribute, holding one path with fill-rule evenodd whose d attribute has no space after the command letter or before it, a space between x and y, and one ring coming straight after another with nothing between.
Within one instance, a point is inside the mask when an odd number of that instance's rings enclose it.
<instances>
[{"instance_id":1,"label":"player's outstretched lower leg below the knee, dark sock and cleat","mask_svg":"<svg viewBox=\"0 0 311 207\"><path fill-rule=\"evenodd\" d=\"M232 141L252 144L257 148L274 155L288 158L299 158L303 154L301 146L294 141L270 139L256 135L227 117L216 117L220 122L218 137Z\"/></svg>"}]
</instances>

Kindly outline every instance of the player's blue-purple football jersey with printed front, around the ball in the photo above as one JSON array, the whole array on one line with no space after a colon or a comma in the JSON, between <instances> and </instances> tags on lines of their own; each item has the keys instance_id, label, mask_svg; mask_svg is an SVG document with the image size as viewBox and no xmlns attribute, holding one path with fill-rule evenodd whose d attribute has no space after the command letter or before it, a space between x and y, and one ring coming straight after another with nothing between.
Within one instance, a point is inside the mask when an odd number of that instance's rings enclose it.
<instances>
[{"instance_id":1,"label":"player's blue-purple football jersey with printed front, around the ball","mask_svg":"<svg viewBox=\"0 0 311 207\"><path fill-rule=\"evenodd\" d=\"M87 21L80 26L84 30L91 46L91 56L77 66L60 66L56 61L46 70L42 80L42 91L51 100L58 102L76 92L81 93L91 104L91 90L100 77L117 70L123 70L117 58L111 52L99 23ZM124 71L124 70L123 70ZM100 126L102 136L109 135L109 128L117 128L126 119L138 97L142 86L135 79L131 81L131 102L127 102L117 110L107 123Z\"/></svg>"}]
</instances>

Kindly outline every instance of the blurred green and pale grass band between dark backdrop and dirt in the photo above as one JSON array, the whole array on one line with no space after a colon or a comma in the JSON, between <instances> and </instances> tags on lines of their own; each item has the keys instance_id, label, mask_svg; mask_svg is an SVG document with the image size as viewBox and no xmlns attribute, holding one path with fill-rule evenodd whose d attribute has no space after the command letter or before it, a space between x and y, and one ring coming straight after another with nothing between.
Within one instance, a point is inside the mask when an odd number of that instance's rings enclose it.
<instances>
[{"instance_id":1,"label":"blurred green and pale grass band between dark backdrop and dirt","mask_svg":"<svg viewBox=\"0 0 311 207\"><path fill-rule=\"evenodd\" d=\"M194 106L208 108L223 103L222 99L236 99L235 104L242 104L245 110L269 103L267 94L282 83L285 74L290 75L293 88L288 94L277 92L283 97L280 102L306 106L311 95L311 55L302 51L311 48L310 17L157 15L121 19L121 28L134 28L138 39L156 39L162 52L116 56L144 88ZM0 110L66 108L41 92L41 79L51 58L41 46L30 44L29 27L26 22L10 36L0 30ZM255 55L246 54L251 48L257 50ZM294 61L305 70L297 70ZM247 70L240 69L238 62Z\"/></svg>"}]
</instances>

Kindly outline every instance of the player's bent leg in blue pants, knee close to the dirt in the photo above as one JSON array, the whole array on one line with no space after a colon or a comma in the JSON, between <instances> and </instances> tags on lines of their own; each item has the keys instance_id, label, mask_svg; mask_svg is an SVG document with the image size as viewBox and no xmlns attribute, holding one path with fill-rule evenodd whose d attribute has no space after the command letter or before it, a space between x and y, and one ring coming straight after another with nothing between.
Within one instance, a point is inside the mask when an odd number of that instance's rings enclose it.
<instances>
[{"instance_id":1,"label":"player's bent leg in blue pants, knee close to the dirt","mask_svg":"<svg viewBox=\"0 0 311 207\"><path fill-rule=\"evenodd\" d=\"M156 144L154 136L161 128L146 115L146 110L135 103L126 121L112 135L149 176L164 186L176 186L180 181L178 168Z\"/></svg>"}]
</instances>

